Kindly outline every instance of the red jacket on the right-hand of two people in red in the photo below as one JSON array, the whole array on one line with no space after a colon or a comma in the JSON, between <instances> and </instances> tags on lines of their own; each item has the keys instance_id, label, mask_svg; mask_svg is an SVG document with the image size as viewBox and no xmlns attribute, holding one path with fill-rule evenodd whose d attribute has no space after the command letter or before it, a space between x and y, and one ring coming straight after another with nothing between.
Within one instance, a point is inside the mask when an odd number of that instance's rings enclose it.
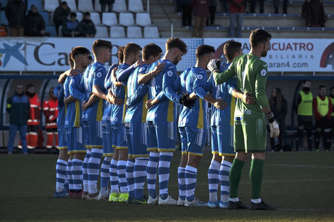
<instances>
[{"instance_id":1,"label":"red jacket on the right-hand of two people in red","mask_svg":"<svg viewBox=\"0 0 334 222\"><path fill-rule=\"evenodd\" d=\"M43 113L45 115L45 128L57 128L58 100L44 100Z\"/></svg>"}]
</instances>

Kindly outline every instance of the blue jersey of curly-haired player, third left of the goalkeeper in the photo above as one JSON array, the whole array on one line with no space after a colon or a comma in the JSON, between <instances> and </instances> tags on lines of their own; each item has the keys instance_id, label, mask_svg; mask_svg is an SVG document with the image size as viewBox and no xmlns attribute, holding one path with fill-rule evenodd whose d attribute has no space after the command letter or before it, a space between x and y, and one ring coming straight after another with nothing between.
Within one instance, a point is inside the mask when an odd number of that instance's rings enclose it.
<instances>
[{"instance_id":1,"label":"blue jersey of curly-haired player, third left of the goalkeeper","mask_svg":"<svg viewBox=\"0 0 334 222\"><path fill-rule=\"evenodd\" d=\"M169 60L158 60L152 63L146 73L151 72L159 63L166 63L163 70L147 82L148 99L158 98L158 104L151 107L147 112L147 121L176 122L176 104L179 103L181 95L177 95L173 83L177 80L176 66ZM163 92L164 95L160 94ZM161 100L161 96L169 100Z\"/></svg>"}]
</instances>

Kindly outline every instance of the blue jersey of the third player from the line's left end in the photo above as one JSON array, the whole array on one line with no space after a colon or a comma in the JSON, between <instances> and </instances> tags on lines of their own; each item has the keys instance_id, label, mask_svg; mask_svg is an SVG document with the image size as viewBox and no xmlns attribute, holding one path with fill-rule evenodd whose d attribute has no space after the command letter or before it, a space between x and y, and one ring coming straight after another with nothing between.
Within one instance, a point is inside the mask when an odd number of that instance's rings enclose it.
<instances>
[{"instance_id":1,"label":"blue jersey of the third player from the line's left end","mask_svg":"<svg viewBox=\"0 0 334 222\"><path fill-rule=\"evenodd\" d=\"M87 77L88 75L88 77ZM107 70L100 62L92 63L89 69L84 72L85 92L93 94L93 86L104 85L104 80L107 75ZM103 99L99 98L94 104L83 111L82 120L86 121L102 121L103 115Z\"/></svg>"}]
</instances>

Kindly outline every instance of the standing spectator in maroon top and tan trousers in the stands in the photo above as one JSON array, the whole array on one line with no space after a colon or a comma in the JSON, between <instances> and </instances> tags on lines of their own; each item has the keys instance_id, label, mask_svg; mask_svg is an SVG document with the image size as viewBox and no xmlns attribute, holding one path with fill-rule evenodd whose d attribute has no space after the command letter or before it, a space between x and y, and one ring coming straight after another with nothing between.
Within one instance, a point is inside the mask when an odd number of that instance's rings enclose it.
<instances>
[{"instance_id":1,"label":"standing spectator in maroon top and tan trousers in the stands","mask_svg":"<svg viewBox=\"0 0 334 222\"><path fill-rule=\"evenodd\" d=\"M190 5L195 19L192 37L203 37L205 22L209 15L209 4L210 0L190 0Z\"/></svg>"}]
</instances>

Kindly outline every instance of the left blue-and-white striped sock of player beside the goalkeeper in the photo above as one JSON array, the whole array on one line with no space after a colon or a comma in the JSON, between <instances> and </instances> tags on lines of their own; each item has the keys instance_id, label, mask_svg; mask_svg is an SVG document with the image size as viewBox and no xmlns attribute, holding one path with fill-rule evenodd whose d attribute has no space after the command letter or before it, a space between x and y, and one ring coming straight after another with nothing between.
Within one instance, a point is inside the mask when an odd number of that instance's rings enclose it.
<instances>
[{"instance_id":1,"label":"left blue-and-white striped sock of player beside the goalkeeper","mask_svg":"<svg viewBox=\"0 0 334 222\"><path fill-rule=\"evenodd\" d=\"M209 195L210 195L209 200L211 202L218 201L217 191L218 191L218 184L219 184L219 168L220 168L220 163L215 160L211 160L211 164L208 170Z\"/></svg>"}]
</instances>

